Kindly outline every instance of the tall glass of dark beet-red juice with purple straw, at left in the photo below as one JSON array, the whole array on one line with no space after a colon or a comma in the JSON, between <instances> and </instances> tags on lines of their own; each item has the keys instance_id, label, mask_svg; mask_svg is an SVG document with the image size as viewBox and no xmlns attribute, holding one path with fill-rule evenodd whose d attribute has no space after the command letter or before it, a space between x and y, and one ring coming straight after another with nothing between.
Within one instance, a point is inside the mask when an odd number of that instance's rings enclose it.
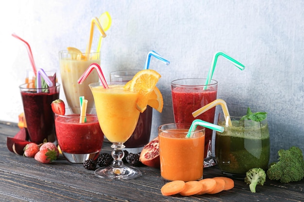
<instances>
[{"instance_id":1,"label":"tall glass of dark beet-red juice with purple straw, at left","mask_svg":"<svg viewBox=\"0 0 304 202\"><path fill-rule=\"evenodd\" d=\"M41 87L40 92L39 89L31 86L35 86L34 83L24 83L19 86L30 141L37 144L45 139L54 142L56 134L51 102L59 98L60 84Z\"/></svg>"}]
</instances>

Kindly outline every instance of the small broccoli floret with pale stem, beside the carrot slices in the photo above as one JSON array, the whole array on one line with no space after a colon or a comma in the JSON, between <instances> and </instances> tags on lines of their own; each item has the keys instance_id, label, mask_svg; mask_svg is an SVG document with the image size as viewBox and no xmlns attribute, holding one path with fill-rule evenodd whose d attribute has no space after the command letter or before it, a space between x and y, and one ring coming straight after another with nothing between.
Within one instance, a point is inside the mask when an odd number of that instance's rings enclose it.
<instances>
[{"instance_id":1,"label":"small broccoli floret with pale stem, beside the carrot slices","mask_svg":"<svg viewBox=\"0 0 304 202\"><path fill-rule=\"evenodd\" d=\"M256 185L264 185L266 181L266 173L261 168L253 168L246 172L245 183L248 185L250 191L255 193Z\"/></svg>"}]
</instances>

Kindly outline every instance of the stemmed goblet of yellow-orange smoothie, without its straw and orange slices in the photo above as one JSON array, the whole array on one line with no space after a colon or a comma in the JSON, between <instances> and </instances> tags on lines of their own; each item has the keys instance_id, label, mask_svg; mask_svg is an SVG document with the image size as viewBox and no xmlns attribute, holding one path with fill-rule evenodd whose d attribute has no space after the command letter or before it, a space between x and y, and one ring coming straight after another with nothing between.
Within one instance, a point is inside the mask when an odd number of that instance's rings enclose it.
<instances>
[{"instance_id":1,"label":"stemmed goblet of yellow-orange smoothie, without its straw and orange slices","mask_svg":"<svg viewBox=\"0 0 304 202\"><path fill-rule=\"evenodd\" d=\"M112 142L113 163L108 167L99 168L95 175L104 179L132 179L139 177L141 172L135 167L123 164L123 148L135 130L139 111L136 102L139 93L132 89L124 89L124 82L110 82L109 88L101 83L89 85L96 105L98 121L104 136Z\"/></svg>"}]
</instances>

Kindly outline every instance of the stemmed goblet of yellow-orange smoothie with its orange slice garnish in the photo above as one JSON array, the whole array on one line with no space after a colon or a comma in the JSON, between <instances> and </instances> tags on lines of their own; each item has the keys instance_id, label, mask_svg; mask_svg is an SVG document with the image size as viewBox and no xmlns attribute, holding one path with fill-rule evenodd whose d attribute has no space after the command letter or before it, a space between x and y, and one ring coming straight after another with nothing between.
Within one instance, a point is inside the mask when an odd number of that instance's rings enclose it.
<instances>
[{"instance_id":1,"label":"stemmed goblet of yellow-orange smoothie with its orange slice garnish","mask_svg":"<svg viewBox=\"0 0 304 202\"><path fill-rule=\"evenodd\" d=\"M100 69L98 64L95 64L95 67ZM102 76L102 73L100 75ZM110 166L97 169L96 176L104 179L126 180L141 175L139 169L123 164L124 142L133 134L139 114L147 108L149 97L160 77L154 70L141 70L127 83L89 84L101 130L112 142L114 159Z\"/></svg>"}]
</instances>

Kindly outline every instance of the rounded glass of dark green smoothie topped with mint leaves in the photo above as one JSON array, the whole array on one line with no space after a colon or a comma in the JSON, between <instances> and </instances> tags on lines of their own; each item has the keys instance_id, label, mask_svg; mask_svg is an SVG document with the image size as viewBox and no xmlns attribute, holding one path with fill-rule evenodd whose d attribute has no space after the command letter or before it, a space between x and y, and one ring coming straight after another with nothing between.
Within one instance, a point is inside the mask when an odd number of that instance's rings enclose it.
<instances>
[{"instance_id":1,"label":"rounded glass of dark green smoothie topped with mint leaves","mask_svg":"<svg viewBox=\"0 0 304 202\"><path fill-rule=\"evenodd\" d=\"M235 114L229 117L219 114L218 125L225 130L216 132L215 155L224 174L244 179L252 168L268 168L269 129L265 111L241 108ZM232 125L225 121L229 119Z\"/></svg>"}]
</instances>

